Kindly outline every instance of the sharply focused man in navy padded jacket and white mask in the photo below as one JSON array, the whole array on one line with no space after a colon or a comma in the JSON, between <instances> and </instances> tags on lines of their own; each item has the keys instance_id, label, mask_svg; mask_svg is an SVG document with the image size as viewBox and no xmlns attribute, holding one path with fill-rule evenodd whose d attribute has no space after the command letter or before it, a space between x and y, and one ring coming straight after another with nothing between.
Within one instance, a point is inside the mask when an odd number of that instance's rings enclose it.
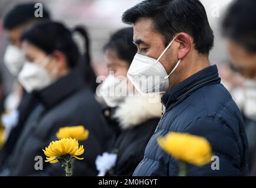
<instances>
[{"instance_id":1,"label":"sharply focused man in navy padded jacket and white mask","mask_svg":"<svg viewBox=\"0 0 256 188\"><path fill-rule=\"evenodd\" d=\"M248 143L242 115L220 83L208 55L214 35L198 0L146 0L124 12L134 26L138 52L128 78L141 93L165 93L165 112L145 149L134 176L177 176L178 161L162 150L159 136L169 132L205 137L218 157L211 163L188 164L188 176L243 176L248 173Z\"/></svg>"}]
</instances>

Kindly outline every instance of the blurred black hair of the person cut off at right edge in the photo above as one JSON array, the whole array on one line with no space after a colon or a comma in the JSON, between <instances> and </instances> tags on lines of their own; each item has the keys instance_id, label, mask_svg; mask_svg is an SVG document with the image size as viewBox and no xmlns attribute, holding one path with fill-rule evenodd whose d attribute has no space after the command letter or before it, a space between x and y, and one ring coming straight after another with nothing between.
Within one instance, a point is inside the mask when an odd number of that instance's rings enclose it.
<instances>
[{"instance_id":1,"label":"blurred black hair of the person cut off at right edge","mask_svg":"<svg viewBox=\"0 0 256 188\"><path fill-rule=\"evenodd\" d=\"M256 52L256 1L238 0L228 8L222 21L222 34Z\"/></svg>"}]
</instances>

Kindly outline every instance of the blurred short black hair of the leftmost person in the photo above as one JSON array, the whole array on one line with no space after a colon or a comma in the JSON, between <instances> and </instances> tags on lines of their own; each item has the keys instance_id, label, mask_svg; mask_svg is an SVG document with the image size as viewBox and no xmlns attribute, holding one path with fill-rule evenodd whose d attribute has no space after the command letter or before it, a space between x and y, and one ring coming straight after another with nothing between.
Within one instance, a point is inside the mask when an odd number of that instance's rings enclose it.
<instances>
[{"instance_id":1,"label":"blurred short black hair of the leftmost person","mask_svg":"<svg viewBox=\"0 0 256 188\"><path fill-rule=\"evenodd\" d=\"M35 3L19 4L14 6L4 17L4 28L11 30L31 21L50 19L48 10L43 6L43 16L35 17Z\"/></svg>"}]
</instances>

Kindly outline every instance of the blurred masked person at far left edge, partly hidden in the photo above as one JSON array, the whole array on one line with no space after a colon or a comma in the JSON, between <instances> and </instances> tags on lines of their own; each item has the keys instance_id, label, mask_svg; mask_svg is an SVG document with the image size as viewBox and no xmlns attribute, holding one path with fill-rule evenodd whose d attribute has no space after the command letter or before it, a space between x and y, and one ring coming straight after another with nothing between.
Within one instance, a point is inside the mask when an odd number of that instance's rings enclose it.
<instances>
[{"instance_id":1,"label":"blurred masked person at far left edge, partly hidden","mask_svg":"<svg viewBox=\"0 0 256 188\"><path fill-rule=\"evenodd\" d=\"M5 143L0 152L0 166L10 155L16 144L24 122L37 104L37 100L27 93L17 80L17 76L25 63L25 54L21 49L20 37L31 26L50 19L46 6L42 10L43 17L35 17L35 4L18 4L12 7L4 16L3 28L8 39L4 53L4 65L14 76L11 92L5 93L4 110L1 115L5 126ZM6 75L6 73L5 73ZM9 75L7 75L9 76Z\"/></svg>"}]
</instances>

